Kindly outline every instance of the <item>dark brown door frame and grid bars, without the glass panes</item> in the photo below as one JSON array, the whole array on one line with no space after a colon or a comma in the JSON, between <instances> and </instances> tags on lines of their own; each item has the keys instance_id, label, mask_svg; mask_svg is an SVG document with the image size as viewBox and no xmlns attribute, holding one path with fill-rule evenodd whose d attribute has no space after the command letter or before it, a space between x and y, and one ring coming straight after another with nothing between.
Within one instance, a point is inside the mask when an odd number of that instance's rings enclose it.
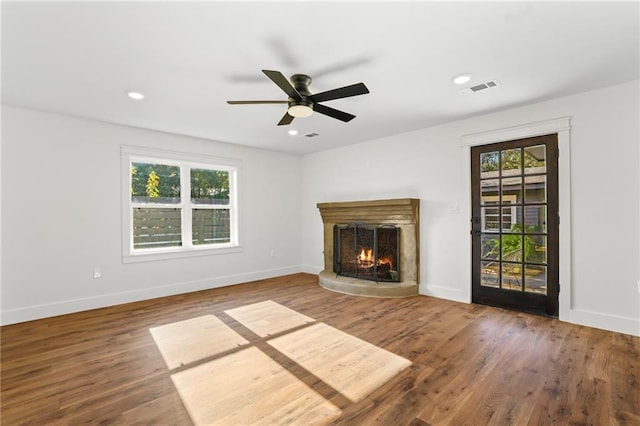
<instances>
[{"instance_id":1,"label":"dark brown door frame and grid bars, without the glass panes","mask_svg":"<svg viewBox=\"0 0 640 426\"><path fill-rule=\"evenodd\" d=\"M532 312L538 313L541 315L550 315L557 316L558 315L558 134L551 133L544 136L534 136L530 138L524 139L516 139L506 142L499 142L496 144L490 145L476 145L471 147L471 188L472 188L472 206L471 212L473 216L474 223L472 224L471 234L474 238L472 238L472 283L471 283L471 299L474 303L485 304L485 305L493 305L504 307L508 309L515 309L521 312ZM533 147L546 147L544 150L544 175L540 174L528 174L526 171L525 164L525 154L522 151L523 149L533 148ZM482 182L483 182L483 168L481 163L481 158L483 154L491 154L498 152L505 152L509 150L517 149L520 154L519 168L517 170L511 170L513 173L507 173L506 177L503 174L504 168L502 164L502 160L499 162L499 169L502 172L496 172L496 175L491 177L492 180L499 180L495 188L492 187L491 193L494 192L498 194L497 196L486 196L483 193ZM492 172L493 173L493 172ZM538 170L536 173L540 173ZM504 194L504 183L503 179L510 179L510 176L513 178L520 180L520 200L519 205L521 206L521 226L522 229L517 233L513 233L513 230L509 226L509 229L505 233L504 224L502 223L504 219L504 206L511 205L508 201L509 198L512 198L513 201L516 201L518 196L516 194L513 195L505 195ZM537 232L541 232L542 234L538 234L534 231L532 234L526 230L526 209L527 205L531 206L530 202L532 200L527 200L527 179L528 176L544 176L544 196L540 200L538 197L533 200L533 205L540 205L539 203L544 202L545 214L544 214L544 223L546 229L538 229ZM483 202L488 198L498 198L498 202L495 204L487 204L492 208L497 207L498 211L498 224L501 225L497 230L487 231L484 228L484 225L481 225L482 219L482 209ZM511 207L511 214L514 214L514 209L517 207ZM510 217L509 220L512 218ZM517 219L516 219L517 220ZM539 219L535 221L536 224L539 224ZM536 225L537 226L537 225ZM543 262L540 259L531 260L527 259L524 250L524 241L534 235L536 236L544 235L546 238L543 243L546 246L545 249L545 259ZM509 265L512 267L515 265L521 266L519 275L520 279L515 278L516 283L521 286L520 289L510 289L505 290L502 284L499 284L499 288L495 288L493 286L485 286L482 283L482 273L481 273L481 265L484 263L485 259L483 259L481 253L484 251L482 238L488 236L490 238L495 238L496 236L499 239L502 239L506 236L506 238L513 238L514 236L519 237L520 245L519 249L520 256L519 262L511 263L511 261L516 261L516 259L507 260L507 263L503 263L505 261L502 255L499 255L497 259L494 257L491 263L497 263L500 267L500 272L497 272L496 280L502 281L504 278L505 267L508 268ZM524 241L523 241L524 240ZM494 240L495 241L495 240ZM502 240L504 242L504 240ZM531 240L533 241L533 240ZM501 245L501 244L500 244ZM499 250L504 254L504 250ZM530 262L533 262L530 263ZM544 283L545 283L545 292L544 294L540 294L534 291L526 290L526 284L529 282L530 276L527 277L526 270L527 267L536 268L537 266L533 266L535 264L539 265L540 263L545 264L545 273L544 273ZM508 280L509 281L509 280ZM511 283L513 284L513 283Z\"/></svg>"}]
</instances>

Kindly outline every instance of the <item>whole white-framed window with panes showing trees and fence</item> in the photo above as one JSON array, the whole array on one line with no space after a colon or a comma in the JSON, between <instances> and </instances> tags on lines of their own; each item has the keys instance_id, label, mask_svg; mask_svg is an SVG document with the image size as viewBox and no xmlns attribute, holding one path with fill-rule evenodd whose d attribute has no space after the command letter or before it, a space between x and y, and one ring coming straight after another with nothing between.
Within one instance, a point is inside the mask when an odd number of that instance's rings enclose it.
<instances>
[{"instance_id":1,"label":"whole white-framed window with panes showing trees and fence","mask_svg":"<svg viewBox=\"0 0 640 426\"><path fill-rule=\"evenodd\" d=\"M123 147L123 259L238 251L239 162Z\"/></svg>"}]
</instances>

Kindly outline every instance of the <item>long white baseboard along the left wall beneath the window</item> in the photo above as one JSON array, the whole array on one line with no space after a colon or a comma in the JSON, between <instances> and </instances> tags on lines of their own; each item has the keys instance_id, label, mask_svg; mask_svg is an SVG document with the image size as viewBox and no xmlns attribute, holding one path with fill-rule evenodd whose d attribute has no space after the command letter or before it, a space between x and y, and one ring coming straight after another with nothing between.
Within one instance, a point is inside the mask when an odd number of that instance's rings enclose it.
<instances>
[{"instance_id":1,"label":"long white baseboard along the left wall beneath the window","mask_svg":"<svg viewBox=\"0 0 640 426\"><path fill-rule=\"evenodd\" d=\"M279 277L282 275L290 275L304 272L302 269L302 266L296 265L284 268L226 275L222 277L212 277L202 280L185 281L160 287L150 287L118 293L108 293L95 297L65 300L56 303L27 306L24 308L3 311L0 314L0 325L15 324L19 322L32 321L57 315L87 311L90 309L120 305L123 303L138 302L141 300L155 299L164 296L173 296L176 294L225 287L234 284Z\"/></svg>"}]
</instances>

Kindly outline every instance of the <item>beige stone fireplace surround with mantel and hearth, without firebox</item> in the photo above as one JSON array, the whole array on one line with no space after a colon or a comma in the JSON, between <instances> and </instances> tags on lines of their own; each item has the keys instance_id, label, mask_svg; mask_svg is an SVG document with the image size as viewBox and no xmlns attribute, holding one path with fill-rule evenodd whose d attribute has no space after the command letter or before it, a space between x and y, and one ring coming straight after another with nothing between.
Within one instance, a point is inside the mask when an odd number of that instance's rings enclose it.
<instances>
[{"instance_id":1,"label":"beige stone fireplace surround with mantel and hearth, without firebox","mask_svg":"<svg viewBox=\"0 0 640 426\"><path fill-rule=\"evenodd\" d=\"M418 294L420 272L420 200L399 198L318 203L324 224L324 270L320 285L339 293L373 297ZM333 227L348 223L400 228L400 282L374 282L338 276L333 271Z\"/></svg>"}]
</instances>

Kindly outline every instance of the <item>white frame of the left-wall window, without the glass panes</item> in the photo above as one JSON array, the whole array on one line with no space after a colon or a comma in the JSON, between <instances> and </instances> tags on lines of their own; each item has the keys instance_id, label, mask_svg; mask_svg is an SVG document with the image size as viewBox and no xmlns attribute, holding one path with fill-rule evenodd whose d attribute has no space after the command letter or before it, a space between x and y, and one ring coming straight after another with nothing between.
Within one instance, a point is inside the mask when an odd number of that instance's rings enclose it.
<instances>
[{"instance_id":1,"label":"white frame of the left-wall window, without the glass panes","mask_svg":"<svg viewBox=\"0 0 640 426\"><path fill-rule=\"evenodd\" d=\"M205 256L212 254L237 253L242 251L240 242L239 214L239 175L242 163L239 160L195 155L159 149L135 146L121 147L122 173L122 261L123 263L146 262ZM131 200L131 163L166 164L180 167L180 195L178 204L153 204L153 208L180 209L182 245L179 247L156 247L134 249L133 247L133 210L136 207L149 207L148 204L135 203ZM229 172L229 204L192 204L190 197L190 169L215 169ZM229 209L230 241L220 244L193 245L191 229L192 209Z\"/></svg>"}]
</instances>

